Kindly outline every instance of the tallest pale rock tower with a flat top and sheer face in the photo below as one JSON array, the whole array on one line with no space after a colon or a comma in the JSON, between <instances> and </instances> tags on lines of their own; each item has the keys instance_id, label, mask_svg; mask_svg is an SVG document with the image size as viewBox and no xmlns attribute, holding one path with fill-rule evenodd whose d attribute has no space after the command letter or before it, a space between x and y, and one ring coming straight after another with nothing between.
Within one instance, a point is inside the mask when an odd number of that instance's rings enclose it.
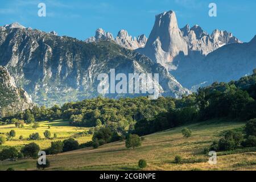
<instances>
[{"instance_id":1,"label":"tallest pale rock tower with a flat top and sheer face","mask_svg":"<svg viewBox=\"0 0 256 182\"><path fill-rule=\"evenodd\" d=\"M177 25L174 11L156 15L146 46L138 51L168 69L174 69L172 61L177 55L188 55L188 46Z\"/></svg>"}]
</instances>

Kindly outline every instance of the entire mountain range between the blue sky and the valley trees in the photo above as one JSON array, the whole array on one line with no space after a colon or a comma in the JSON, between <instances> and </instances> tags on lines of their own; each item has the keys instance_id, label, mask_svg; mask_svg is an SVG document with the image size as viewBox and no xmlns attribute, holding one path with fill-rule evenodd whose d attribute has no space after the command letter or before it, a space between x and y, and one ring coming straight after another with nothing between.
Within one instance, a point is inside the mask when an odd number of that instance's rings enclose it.
<instances>
[{"instance_id":1,"label":"entire mountain range between the blue sky and the valley trees","mask_svg":"<svg viewBox=\"0 0 256 182\"><path fill-rule=\"evenodd\" d=\"M114 38L98 28L95 36L82 41L13 23L0 27L0 65L39 105L99 96L97 76L110 69L125 75L158 73L156 96L179 98L200 86L250 74L256 68L255 39L242 43L228 31L208 34L188 24L179 28L174 11L156 15L148 39L133 38L126 30Z\"/></svg>"}]
</instances>

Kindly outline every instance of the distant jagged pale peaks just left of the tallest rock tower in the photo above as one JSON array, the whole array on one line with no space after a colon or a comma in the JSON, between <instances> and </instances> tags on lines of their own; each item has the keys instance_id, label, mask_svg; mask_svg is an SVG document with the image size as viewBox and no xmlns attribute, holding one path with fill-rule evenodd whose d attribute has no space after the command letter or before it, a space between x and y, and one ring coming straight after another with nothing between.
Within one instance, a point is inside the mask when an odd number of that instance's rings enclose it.
<instances>
[{"instance_id":1,"label":"distant jagged pale peaks just left of the tallest rock tower","mask_svg":"<svg viewBox=\"0 0 256 182\"><path fill-rule=\"evenodd\" d=\"M102 28L98 28L96 30L96 35L86 39L85 42L92 43L102 40L113 41L119 46L130 50L142 48L146 45L147 42L147 38L144 34L138 36L138 38L133 38L128 34L126 30L120 30L117 34L117 37L114 38L114 36L110 32L105 32L104 30L102 30Z\"/></svg>"}]
</instances>

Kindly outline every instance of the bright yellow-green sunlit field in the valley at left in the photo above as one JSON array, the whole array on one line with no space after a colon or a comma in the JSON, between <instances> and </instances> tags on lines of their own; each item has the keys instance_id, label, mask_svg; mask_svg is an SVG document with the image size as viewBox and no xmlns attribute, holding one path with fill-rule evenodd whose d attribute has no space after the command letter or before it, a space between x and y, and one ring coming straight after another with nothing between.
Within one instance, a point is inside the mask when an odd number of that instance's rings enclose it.
<instances>
[{"instance_id":1,"label":"bright yellow-green sunlit field in the valley at left","mask_svg":"<svg viewBox=\"0 0 256 182\"><path fill-rule=\"evenodd\" d=\"M82 131L88 130L88 128L69 126L68 121L62 121L62 120L54 121L54 122L44 121L39 123L40 123L40 127L37 129L33 129L32 125L24 125L24 128L20 128L20 129L16 128L14 124L0 126L0 133L2 133L2 135L10 132L10 130L15 130L16 132L16 136L12 140L6 141L5 146L22 146L24 144L30 143L32 141L28 140L28 137L32 133L39 133L41 139L33 142L38 143L40 148L42 149L51 146L51 142L54 140L64 140L67 138L75 137L76 140L81 144L81 143L88 142L89 140L92 139L92 136L80 137L80 135L78 135ZM51 126L51 128L48 129L48 126ZM53 134L56 133L57 138L45 139L43 133L46 130L51 131L52 137L53 137ZM23 140L19 140L20 135L23 136L24 138Z\"/></svg>"}]
</instances>

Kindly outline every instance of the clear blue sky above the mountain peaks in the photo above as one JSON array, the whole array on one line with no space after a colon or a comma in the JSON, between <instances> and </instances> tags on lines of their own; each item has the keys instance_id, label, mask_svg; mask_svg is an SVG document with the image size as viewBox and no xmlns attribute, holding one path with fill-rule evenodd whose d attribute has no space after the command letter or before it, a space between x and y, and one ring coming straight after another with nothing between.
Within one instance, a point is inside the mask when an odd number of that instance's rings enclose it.
<instances>
[{"instance_id":1,"label":"clear blue sky above the mountain peaks","mask_svg":"<svg viewBox=\"0 0 256 182\"><path fill-rule=\"evenodd\" d=\"M46 17L38 16L38 4L46 3ZM209 17L208 5L217 5L217 17ZM0 26L19 22L26 27L85 40L102 27L114 36L121 29L130 35L150 34L155 15L174 10L179 27L199 24L233 32L243 42L256 34L255 0L0 0Z\"/></svg>"}]
</instances>

